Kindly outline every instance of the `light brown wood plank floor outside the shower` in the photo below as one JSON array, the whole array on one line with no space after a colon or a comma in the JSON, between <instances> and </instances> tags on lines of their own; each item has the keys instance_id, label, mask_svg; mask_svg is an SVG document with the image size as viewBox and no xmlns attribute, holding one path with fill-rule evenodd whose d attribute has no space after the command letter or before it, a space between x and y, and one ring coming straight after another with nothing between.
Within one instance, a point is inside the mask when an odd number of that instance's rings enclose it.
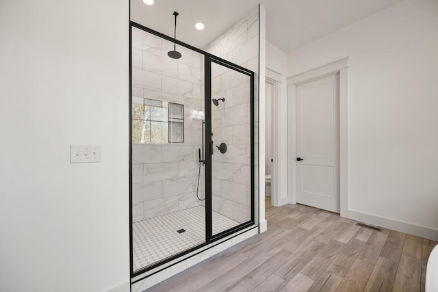
<instances>
[{"instance_id":1,"label":"light brown wood plank floor outside the shower","mask_svg":"<svg viewBox=\"0 0 438 292\"><path fill-rule=\"evenodd\" d=\"M146 291L424 291L436 241L268 200L266 220L266 233Z\"/></svg>"}]
</instances>

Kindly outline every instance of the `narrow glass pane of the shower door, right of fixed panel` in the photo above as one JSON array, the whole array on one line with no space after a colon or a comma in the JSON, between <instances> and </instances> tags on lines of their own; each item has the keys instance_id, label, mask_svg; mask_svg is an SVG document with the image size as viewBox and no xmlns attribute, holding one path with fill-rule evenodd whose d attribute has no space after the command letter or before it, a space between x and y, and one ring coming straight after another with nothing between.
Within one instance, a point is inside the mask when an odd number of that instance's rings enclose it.
<instances>
[{"instance_id":1,"label":"narrow glass pane of the shower door, right of fixed panel","mask_svg":"<svg viewBox=\"0 0 438 292\"><path fill-rule=\"evenodd\" d=\"M252 220L251 78L211 62L212 235Z\"/></svg>"}]
</instances>

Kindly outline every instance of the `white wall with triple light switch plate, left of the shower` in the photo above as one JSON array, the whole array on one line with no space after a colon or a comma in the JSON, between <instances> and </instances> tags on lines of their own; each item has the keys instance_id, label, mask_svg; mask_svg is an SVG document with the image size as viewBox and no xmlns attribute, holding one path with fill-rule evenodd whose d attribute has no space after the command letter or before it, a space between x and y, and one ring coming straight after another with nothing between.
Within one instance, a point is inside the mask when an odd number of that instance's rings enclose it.
<instances>
[{"instance_id":1,"label":"white wall with triple light switch plate, left of the shower","mask_svg":"<svg viewBox=\"0 0 438 292\"><path fill-rule=\"evenodd\" d=\"M129 291L129 3L102 9L0 2L1 291Z\"/></svg>"}]
</instances>

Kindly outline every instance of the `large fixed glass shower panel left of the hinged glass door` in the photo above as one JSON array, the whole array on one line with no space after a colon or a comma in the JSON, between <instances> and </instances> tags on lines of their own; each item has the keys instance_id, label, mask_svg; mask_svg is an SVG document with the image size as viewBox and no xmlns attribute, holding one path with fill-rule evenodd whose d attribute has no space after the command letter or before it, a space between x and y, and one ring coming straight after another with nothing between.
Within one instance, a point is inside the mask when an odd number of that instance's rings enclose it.
<instances>
[{"instance_id":1,"label":"large fixed glass shower panel left of the hinged glass door","mask_svg":"<svg viewBox=\"0 0 438 292\"><path fill-rule=\"evenodd\" d=\"M131 28L133 272L205 243L204 55Z\"/></svg>"}]
</instances>

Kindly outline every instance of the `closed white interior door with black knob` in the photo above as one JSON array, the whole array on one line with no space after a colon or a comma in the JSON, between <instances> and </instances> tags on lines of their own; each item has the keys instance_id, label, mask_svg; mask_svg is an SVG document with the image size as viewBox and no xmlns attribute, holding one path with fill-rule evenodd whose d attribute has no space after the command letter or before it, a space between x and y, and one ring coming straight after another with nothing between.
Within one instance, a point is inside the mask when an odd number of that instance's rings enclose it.
<instances>
[{"instance_id":1,"label":"closed white interior door with black knob","mask_svg":"<svg viewBox=\"0 0 438 292\"><path fill-rule=\"evenodd\" d=\"M296 87L296 201L339 213L339 75Z\"/></svg>"}]
</instances>

